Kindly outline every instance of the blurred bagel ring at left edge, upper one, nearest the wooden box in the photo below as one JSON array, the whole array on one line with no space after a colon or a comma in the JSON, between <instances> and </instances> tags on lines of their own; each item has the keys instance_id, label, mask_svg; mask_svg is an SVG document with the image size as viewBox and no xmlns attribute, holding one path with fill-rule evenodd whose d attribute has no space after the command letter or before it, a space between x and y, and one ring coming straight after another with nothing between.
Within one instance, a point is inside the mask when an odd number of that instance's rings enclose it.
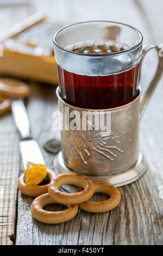
<instances>
[{"instance_id":1,"label":"blurred bagel ring at left edge, upper one, nearest the wooden box","mask_svg":"<svg viewBox=\"0 0 163 256\"><path fill-rule=\"evenodd\" d=\"M30 94L30 87L20 80L1 78L0 93L8 97L27 97Z\"/></svg>"}]
</instances>

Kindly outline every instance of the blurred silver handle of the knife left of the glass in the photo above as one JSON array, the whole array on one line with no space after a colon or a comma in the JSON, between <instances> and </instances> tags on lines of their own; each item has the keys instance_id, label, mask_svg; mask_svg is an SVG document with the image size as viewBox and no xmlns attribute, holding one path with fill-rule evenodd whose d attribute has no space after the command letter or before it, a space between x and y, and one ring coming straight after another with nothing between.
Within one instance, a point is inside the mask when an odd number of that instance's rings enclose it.
<instances>
[{"instance_id":1,"label":"blurred silver handle of the knife left of the glass","mask_svg":"<svg viewBox=\"0 0 163 256\"><path fill-rule=\"evenodd\" d=\"M26 107L22 100L13 100L11 105L12 115L14 117L17 130L20 132L21 139L30 138L30 123Z\"/></svg>"}]
</instances>

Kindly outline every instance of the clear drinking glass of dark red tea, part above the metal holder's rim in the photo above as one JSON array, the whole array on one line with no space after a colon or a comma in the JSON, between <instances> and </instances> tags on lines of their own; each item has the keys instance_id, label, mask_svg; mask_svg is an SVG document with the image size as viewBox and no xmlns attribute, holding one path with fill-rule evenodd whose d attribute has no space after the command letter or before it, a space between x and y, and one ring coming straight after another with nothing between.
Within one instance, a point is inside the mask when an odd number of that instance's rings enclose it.
<instances>
[{"instance_id":1,"label":"clear drinking glass of dark red tea, part above the metal holder's rim","mask_svg":"<svg viewBox=\"0 0 163 256\"><path fill-rule=\"evenodd\" d=\"M108 109L138 95L142 34L118 22L80 22L54 35L60 96L81 108Z\"/></svg>"}]
</instances>

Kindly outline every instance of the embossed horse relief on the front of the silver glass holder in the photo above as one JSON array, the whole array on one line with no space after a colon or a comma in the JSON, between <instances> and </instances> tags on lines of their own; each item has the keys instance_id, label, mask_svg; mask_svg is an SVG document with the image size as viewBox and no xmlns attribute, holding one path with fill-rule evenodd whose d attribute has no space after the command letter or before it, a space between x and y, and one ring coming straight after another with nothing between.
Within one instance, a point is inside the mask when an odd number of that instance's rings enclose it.
<instances>
[{"instance_id":1,"label":"embossed horse relief on the front of the silver glass holder","mask_svg":"<svg viewBox=\"0 0 163 256\"><path fill-rule=\"evenodd\" d=\"M74 156L87 164L87 159L91 157L91 151L95 151L110 161L114 161L117 153L123 150L118 148L120 141L114 132L95 130L86 131L66 131L66 145L71 148Z\"/></svg>"}]
</instances>

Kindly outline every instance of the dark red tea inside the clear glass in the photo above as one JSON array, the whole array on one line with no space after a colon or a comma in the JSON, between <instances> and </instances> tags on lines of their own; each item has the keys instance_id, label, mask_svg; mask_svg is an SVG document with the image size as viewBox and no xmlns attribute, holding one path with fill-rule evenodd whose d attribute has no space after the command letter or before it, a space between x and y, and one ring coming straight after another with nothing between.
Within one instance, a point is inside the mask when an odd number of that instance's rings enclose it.
<instances>
[{"instance_id":1,"label":"dark red tea inside the clear glass","mask_svg":"<svg viewBox=\"0 0 163 256\"><path fill-rule=\"evenodd\" d=\"M122 51L115 46L88 46L74 51L105 54ZM68 72L58 66L62 99L82 108L104 109L122 106L137 96L139 64L128 71L106 76L85 76Z\"/></svg>"}]
</instances>

